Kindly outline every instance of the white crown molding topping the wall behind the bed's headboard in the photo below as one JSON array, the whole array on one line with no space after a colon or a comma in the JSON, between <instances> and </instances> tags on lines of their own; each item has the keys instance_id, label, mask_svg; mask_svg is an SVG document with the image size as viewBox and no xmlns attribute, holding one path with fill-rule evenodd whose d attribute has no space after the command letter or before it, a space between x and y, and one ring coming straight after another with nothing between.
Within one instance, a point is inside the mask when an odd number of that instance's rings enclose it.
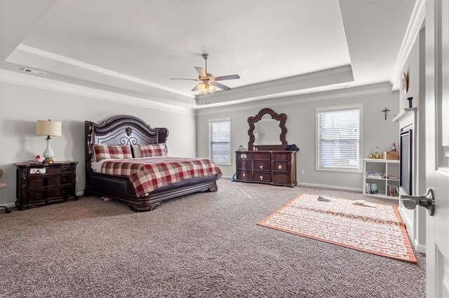
<instances>
[{"instance_id":1,"label":"white crown molding topping the wall behind the bed's headboard","mask_svg":"<svg viewBox=\"0 0 449 298\"><path fill-rule=\"evenodd\" d=\"M175 113L182 113L186 115L196 115L193 108L184 108L181 106L172 106L170 104L163 104L159 101L150 99L142 99L140 97L131 97L128 95L118 94L105 90L98 90L81 85L74 85L71 83L61 82L59 80L51 80L49 78L41 78L25 73L18 73L15 71L8 71L0 69L0 81L5 83L13 83L18 85L25 85L29 87L41 88L44 90L51 90L55 92L63 92L67 94L79 95L82 97L91 97L95 99L102 99L107 101L119 102L121 104L130 104L133 106L142 106L145 108L153 108L161 111L170 111Z\"/></svg>"}]
</instances>

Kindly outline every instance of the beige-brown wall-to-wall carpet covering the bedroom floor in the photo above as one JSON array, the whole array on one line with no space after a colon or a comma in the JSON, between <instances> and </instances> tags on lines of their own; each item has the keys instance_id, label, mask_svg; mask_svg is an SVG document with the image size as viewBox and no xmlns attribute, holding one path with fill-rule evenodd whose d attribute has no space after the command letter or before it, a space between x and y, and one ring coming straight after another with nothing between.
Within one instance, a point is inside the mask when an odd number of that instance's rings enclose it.
<instances>
[{"instance_id":1,"label":"beige-brown wall-to-wall carpet covering the bedroom floor","mask_svg":"<svg viewBox=\"0 0 449 298\"><path fill-rule=\"evenodd\" d=\"M148 213L83 197L0 214L0 297L424 297L419 253L413 264L256 225L300 192L362 194L219 187Z\"/></svg>"}]
</instances>

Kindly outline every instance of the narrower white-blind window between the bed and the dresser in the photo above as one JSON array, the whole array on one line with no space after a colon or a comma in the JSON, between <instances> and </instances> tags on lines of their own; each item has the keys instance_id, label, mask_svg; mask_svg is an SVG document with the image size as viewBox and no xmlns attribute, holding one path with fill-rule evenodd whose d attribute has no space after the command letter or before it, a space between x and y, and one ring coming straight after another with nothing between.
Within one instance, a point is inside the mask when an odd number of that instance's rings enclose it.
<instances>
[{"instance_id":1,"label":"narrower white-blind window between the bed and the dresser","mask_svg":"<svg viewBox=\"0 0 449 298\"><path fill-rule=\"evenodd\" d=\"M231 165L231 120L209 120L209 158L217 164Z\"/></svg>"}]
</instances>

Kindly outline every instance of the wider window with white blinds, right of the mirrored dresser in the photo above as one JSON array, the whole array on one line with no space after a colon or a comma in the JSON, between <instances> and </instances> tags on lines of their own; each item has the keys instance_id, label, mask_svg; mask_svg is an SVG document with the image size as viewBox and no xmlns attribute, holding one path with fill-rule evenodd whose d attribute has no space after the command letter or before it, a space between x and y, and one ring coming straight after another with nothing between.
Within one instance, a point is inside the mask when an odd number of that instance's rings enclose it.
<instances>
[{"instance_id":1,"label":"wider window with white blinds, right of the mirrored dresser","mask_svg":"<svg viewBox=\"0 0 449 298\"><path fill-rule=\"evenodd\" d=\"M361 171L361 106L316 110L316 169Z\"/></svg>"}]
</instances>

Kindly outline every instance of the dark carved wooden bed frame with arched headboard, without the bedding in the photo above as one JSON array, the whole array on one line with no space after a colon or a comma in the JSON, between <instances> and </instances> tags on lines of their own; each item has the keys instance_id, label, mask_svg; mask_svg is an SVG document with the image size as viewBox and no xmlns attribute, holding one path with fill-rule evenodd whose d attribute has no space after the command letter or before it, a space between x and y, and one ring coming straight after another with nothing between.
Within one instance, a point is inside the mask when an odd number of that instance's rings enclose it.
<instances>
[{"instance_id":1,"label":"dark carved wooden bed frame with arched headboard, without the bedding","mask_svg":"<svg viewBox=\"0 0 449 298\"><path fill-rule=\"evenodd\" d=\"M221 172L214 174L203 173L207 176L182 178L168 185L156 185L150 192L137 190L130 181L130 176L117 175L113 172L102 173L93 169L95 152L93 144L103 145L136 145L136 144L165 144L168 138L168 129L152 128L144 121L130 115L119 115L100 124L86 121L85 126L85 162L86 162L86 189L85 196L98 195L110 197L125 202L133 211L152 211L162 201L180 197L193 192L216 192L217 179ZM191 161L191 159L186 159ZM123 162L133 162L123 160ZM138 161L135 161L138 162ZM164 160L164 162L170 162ZM149 162L151 163L151 162ZM154 163L154 162L153 162ZM213 162L212 162L213 163ZM105 166L103 166L105 168ZM216 171L215 171L216 172ZM151 181L151 178L148 178Z\"/></svg>"}]
</instances>

